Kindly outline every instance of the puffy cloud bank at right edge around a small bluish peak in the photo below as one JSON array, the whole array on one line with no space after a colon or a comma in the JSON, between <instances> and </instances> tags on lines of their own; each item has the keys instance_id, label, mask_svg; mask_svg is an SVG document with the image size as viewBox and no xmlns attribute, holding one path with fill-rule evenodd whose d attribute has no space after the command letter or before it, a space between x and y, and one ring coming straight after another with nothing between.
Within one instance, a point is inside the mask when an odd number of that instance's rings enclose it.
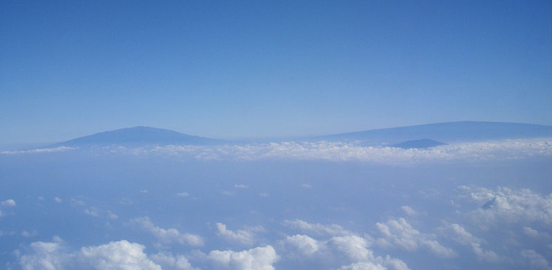
<instances>
[{"instance_id":1,"label":"puffy cloud bank at right edge around a small bluish peak","mask_svg":"<svg viewBox=\"0 0 552 270\"><path fill-rule=\"evenodd\" d=\"M477 209L468 216L473 222L492 227L515 222L544 222L552 225L552 194L542 196L530 189L473 188L467 198Z\"/></svg>"}]
</instances>

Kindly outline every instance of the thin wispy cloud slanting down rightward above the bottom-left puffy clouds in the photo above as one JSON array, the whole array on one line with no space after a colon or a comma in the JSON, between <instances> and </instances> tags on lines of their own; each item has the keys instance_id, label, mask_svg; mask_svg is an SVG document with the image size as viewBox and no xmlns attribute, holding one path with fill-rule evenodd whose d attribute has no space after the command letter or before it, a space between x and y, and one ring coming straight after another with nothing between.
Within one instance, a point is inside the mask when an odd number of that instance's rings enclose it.
<instances>
[{"instance_id":1,"label":"thin wispy cloud slanting down rightward above the bottom-left puffy clouds","mask_svg":"<svg viewBox=\"0 0 552 270\"><path fill-rule=\"evenodd\" d=\"M141 218L134 218L130 222L139 225L142 229L152 233L157 240L163 244L171 244L172 242L178 242L179 244L187 244L192 247L203 247L204 240L201 236L190 234L190 233L180 233L177 229L162 229L155 226L150 218L147 216Z\"/></svg>"}]
</instances>

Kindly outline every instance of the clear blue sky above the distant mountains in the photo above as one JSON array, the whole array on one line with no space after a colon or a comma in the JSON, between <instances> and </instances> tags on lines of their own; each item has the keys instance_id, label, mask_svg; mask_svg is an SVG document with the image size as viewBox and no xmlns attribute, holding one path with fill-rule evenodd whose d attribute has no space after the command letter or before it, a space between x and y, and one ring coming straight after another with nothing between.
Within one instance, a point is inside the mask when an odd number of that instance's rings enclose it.
<instances>
[{"instance_id":1,"label":"clear blue sky above the distant mountains","mask_svg":"<svg viewBox=\"0 0 552 270\"><path fill-rule=\"evenodd\" d=\"M1 1L0 143L552 125L552 1Z\"/></svg>"}]
</instances>

